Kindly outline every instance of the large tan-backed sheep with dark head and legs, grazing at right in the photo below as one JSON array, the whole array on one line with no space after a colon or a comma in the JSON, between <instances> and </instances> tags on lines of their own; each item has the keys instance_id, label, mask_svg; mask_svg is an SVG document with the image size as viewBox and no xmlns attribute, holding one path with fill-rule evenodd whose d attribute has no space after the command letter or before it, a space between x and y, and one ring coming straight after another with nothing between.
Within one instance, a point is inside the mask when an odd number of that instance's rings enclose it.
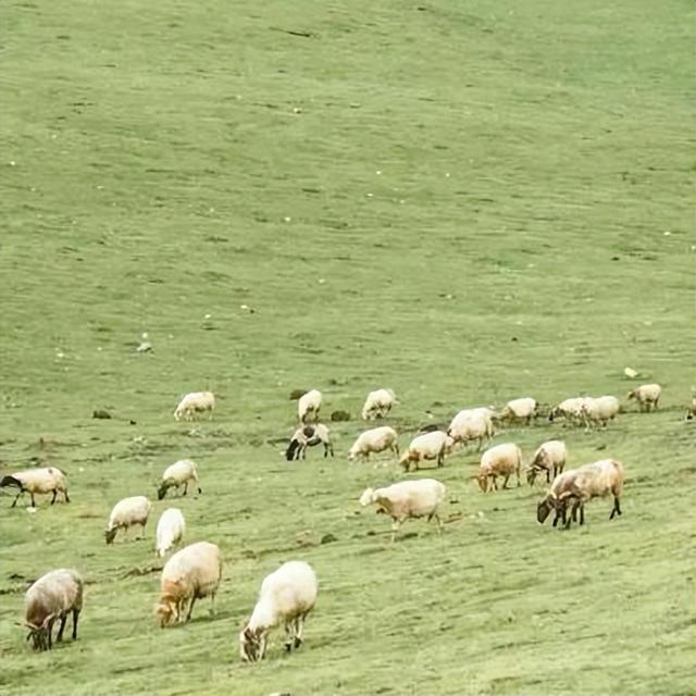
<instances>
[{"instance_id":1,"label":"large tan-backed sheep with dark head and legs, grazing at right","mask_svg":"<svg viewBox=\"0 0 696 696\"><path fill-rule=\"evenodd\" d=\"M573 471L572 476L562 481L554 481L551 490L537 506L537 520L543 523L551 508L556 508L556 520L559 510L566 522L566 529L570 527L571 520L576 520L580 510L580 524L585 523L585 504L597 497L613 495L613 506L609 519L621 514L621 493L624 482L623 464L616 459L601 459L592 464L585 464ZM568 506L572 504L571 517L566 520Z\"/></svg>"}]
</instances>

